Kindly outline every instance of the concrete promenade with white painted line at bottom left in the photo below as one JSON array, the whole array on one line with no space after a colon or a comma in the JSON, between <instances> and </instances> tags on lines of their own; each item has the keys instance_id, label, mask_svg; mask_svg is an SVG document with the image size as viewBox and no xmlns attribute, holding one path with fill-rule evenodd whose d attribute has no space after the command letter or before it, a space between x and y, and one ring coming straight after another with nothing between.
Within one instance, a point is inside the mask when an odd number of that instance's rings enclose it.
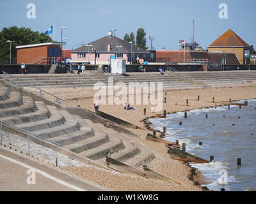
<instances>
[{"instance_id":1,"label":"concrete promenade with white painted line at bottom left","mask_svg":"<svg viewBox=\"0 0 256 204\"><path fill-rule=\"evenodd\" d=\"M35 177L33 177L35 175ZM0 147L0 191L106 191L57 168Z\"/></svg>"}]
</instances>

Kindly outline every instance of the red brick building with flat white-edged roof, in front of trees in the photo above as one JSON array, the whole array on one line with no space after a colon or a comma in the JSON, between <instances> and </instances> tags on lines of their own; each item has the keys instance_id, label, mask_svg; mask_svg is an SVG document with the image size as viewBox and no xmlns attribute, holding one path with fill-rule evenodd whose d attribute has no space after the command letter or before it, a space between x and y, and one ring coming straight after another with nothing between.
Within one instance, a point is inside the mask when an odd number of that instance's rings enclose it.
<instances>
[{"instance_id":1,"label":"red brick building with flat white-edged roof, in front of trees","mask_svg":"<svg viewBox=\"0 0 256 204\"><path fill-rule=\"evenodd\" d=\"M49 57L62 57L61 45L66 43L38 43L33 45L17 46L17 64L44 64L40 63ZM44 60L42 60L44 59Z\"/></svg>"}]
</instances>

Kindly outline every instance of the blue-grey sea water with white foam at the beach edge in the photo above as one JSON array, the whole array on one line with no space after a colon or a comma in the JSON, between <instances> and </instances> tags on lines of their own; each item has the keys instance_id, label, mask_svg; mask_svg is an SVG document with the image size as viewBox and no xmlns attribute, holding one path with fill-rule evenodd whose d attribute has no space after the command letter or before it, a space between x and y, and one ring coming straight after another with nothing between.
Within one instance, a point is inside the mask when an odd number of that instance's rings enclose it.
<instances>
[{"instance_id":1,"label":"blue-grey sea water with white foam at the beach edge","mask_svg":"<svg viewBox=\"0 0 256 204\"><path fill-rule=\"evenodd\" d=\"M166 140L186 143L186 152L207 160L214 156L211 163L191 163L202 172L204 186L215 191L251 191L256 190L255 107L256 100L251 99L241 109L234 105L230 110L227 106L195 109L188 112L186 119L184 112L177 112L150 122L159 131L166 127ZM242 166L237 166L237 158L241 158Z\"/></svg>"}]
</instances>

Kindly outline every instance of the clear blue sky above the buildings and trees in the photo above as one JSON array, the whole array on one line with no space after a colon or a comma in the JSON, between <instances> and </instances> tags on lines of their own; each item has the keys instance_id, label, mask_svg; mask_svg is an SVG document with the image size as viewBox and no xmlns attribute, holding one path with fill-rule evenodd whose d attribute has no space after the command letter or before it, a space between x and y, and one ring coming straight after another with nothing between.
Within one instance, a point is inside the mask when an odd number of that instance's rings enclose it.
<instances>
[{"instance_id":1,"label":"clear blue sky above the buildings and trees","mask_svg":"<svg viewBox=\"0 0 256 204\"><path fill-rule=\"evenodd\" d=\"M35 4L35 18L27 17L29 3ZM221 3L227 4L227 18L219 17ZM256 46L255 11L255 0L1 0L0 29L16 25L45 32L54 22L55 40L61 41L61 27L66 27L63 38L72 49L111 29L123 39L143 27L149 48L148 37L154 36L155 50L178 50L179 40L191 41L194 19L195 40L203 48L228 29Z\"/></svg>"}]
</instances>

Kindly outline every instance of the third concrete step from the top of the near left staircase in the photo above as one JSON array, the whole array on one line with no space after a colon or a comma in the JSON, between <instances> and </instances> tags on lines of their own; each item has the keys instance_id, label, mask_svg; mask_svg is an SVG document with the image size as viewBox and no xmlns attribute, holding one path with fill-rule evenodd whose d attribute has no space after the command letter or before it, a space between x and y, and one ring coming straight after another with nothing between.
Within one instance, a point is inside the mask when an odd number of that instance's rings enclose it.
<instances>
[{"instance_id":1,"label":"third concrete step from the top of the near left staircase","mask_svg":"<svg viewBox=\"0 0 256 204\"><path fill-rule=\"evenodd\" d=\"M36 112L36 110L37 108L35 101L29 96L23 96L23 105L0 110L0 118L12 117L14 115L24 115L27 113Z\"/></svg>"}]
</instances>

